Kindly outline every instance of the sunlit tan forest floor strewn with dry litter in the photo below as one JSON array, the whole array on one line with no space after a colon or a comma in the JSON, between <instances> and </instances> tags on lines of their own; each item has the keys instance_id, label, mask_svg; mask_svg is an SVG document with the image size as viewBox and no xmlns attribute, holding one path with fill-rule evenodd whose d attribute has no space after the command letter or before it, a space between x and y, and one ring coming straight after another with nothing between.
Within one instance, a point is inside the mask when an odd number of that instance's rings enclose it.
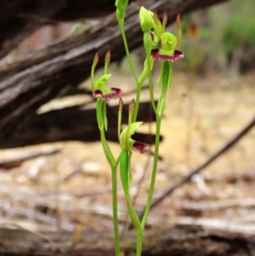
<instances>
[{"instance_id":1,"label":"sunlit tan forest floor strewn with dry litter","mask_svg":"<svg viewBox=\"0 0 255 256\"><path fill-rule=\"evenodd\" d=\"M112 87L119 87L119 81L128 81L127 76L121 76L113 78ZM122 87L132 88L127 83ZM147 92L144 97L148 99ZM125 102L129 99L124 98ZM164 139L155 197L218 151L254 114L254 74L241 77L241 82L234 84L221 75L192 77L178 73L162 121ZM86 122L89 120L84 120ZM153 131L155 124L144 124L140 131L148 132L150 128ZM110 145L117 156L119 145ZM0 170L2 228L21 227L35 231L113 229L111 171L99 142L54 143L4 150L0 151L0 159L59 146L62 151L54 156L40 156L18 168ZM151 156L133 153L130 193L138 211L146 202L151 165ZM127 211L121 184L119 222L123 230ZM164 229L176 224L255 233L255 128L151 210L148 227Z\"/></svg>"}]
</instances>

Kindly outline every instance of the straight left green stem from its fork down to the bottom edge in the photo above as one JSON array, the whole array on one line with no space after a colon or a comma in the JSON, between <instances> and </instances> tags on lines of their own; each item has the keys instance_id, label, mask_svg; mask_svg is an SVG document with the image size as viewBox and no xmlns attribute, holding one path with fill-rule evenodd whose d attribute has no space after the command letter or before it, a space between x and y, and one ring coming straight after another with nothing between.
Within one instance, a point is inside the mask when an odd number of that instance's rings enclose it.
<instances>
[{"instance_id":1,"label":"straight left green stem from its fork down to the bottom edge","mask_svg":"<svg viewBox=\"0 0 255 256\"><path fill-rule=\"evenodd\" d=\"M112 186L112 215L114 226L114 242L115 242L115 255L120 256L120 234L118 223L118 206L117 206L117 165L111 167L111 186Z\"/></svg>"}]
</instances>

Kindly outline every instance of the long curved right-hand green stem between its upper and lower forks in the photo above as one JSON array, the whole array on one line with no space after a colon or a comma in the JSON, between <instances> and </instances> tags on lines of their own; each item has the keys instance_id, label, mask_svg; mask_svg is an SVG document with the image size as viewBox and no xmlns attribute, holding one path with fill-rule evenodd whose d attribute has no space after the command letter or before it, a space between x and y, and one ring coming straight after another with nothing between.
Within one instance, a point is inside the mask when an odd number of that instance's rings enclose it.
<instances>
[{"instance_id":1,"label":"long curved right-hand green stem between its upper and lower forks","mask_svg":"<svg viewBox=\"0 0 255 256\"><path fill-rule=\"evenodd\" d=\"M153 191L154 191L154 186L156 181L156 169L157 169L159 144L160 144L160 131L161 131L161 117L156 116L156 141L155 141L155 151L154 151L154 162L153 162L153 169L152 169L152 174L150 179L150 191L147 198L144 217L141 222L142 229L144 229L144 225L146 224L146 221L150 212L150 205L152 202L152 196L153 196Z\"/></svg>"}]
</instances>

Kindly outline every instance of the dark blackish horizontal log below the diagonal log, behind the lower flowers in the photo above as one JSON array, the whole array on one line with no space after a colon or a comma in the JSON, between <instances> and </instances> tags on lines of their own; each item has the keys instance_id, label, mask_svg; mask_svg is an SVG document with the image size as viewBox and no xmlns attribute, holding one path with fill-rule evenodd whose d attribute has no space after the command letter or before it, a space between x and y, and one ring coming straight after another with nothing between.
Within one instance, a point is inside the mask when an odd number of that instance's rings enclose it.
<instances>
[{"instance_id":1,"label":"dark blackish horizontal log below the diagonal log, behind the lower flowers","mask_svg":"<svg viewBox=\"0 0 255 256\"><path fill-rule=\"evenodd\" d=\"M118 105L108 106L109 128L106 138L117 142L117 111ZM122 123L127 123L128 104L123 106ZM150 102L140 105L138 119L143 122L154 122ZM100 139L94 104L66 107L60 110L48 111L43 114L32 114L26 117L12 133L11 137L0 140L0 148L11 148L25 145L37 145L48 142L79 140L93 142ZM155 141L154 134L136 133L133 139L138 139L151 145Z\"/></svg>"}]
</instances>

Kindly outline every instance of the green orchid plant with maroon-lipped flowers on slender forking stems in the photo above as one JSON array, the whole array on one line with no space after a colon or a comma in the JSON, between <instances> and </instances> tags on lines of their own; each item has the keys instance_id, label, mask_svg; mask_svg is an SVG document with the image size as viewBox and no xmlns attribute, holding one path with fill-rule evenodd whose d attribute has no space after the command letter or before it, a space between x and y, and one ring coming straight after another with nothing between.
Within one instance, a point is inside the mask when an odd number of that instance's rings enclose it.
<instances>
[{"instance_id":1,"label":"green orchid plant with maroon-lipped flowers on slender forking stems","mask_svg":"<svg viewBox=\"0 0 255 256\"><path fill-rule=\"evenodd\" d=\"M150 205L156 181L156 169L159 155L160 144L160 130L161 118L165 110L167 102L167 92L173 86L173 62L184 58L184 54L179 50L181 43L181 22L180 16L177 15L178 37L172 33L165 31L167 25L167 13L164 12L162 21L158 18L156 13L141 7L139 11L139 21L142 31L144 32L144 50L146 59L144 60L144 70L138 76L133 68L133 61L129 54L127 45L126 34L124 31L125 10L127 9L128 0L116 0L116 19L118 21L120 31L122 32L122 39L126 49L127 60L130 70L133 74L134 80L137 84L136 99L131 100L129 103L128 123L127 127L122 130L122 108L123 100L121 98L122 88L108 88L106 87L111 74L108 74L108 66L111 60L111 53L108 51L105 54L105 70L104 74L94 81L94 71L99 61L99 55L95 54L94 62L91 69L91 88L93 96L96 99L96 117L99 126L100 139L105 151L105 156L111 167L112 178L112 211L114 220L115 232L115 249L116 256L120 255L120 242L119 242L119 228L117 216L117 170L120 169L120 177L122 181L122 188L127 203L127 212L131 219L137 236L137 250L136 255L141 255L142 252L142 239L144 232L144 225L150 212ZM154 84L152 82L151 71L155 60L161 63L161 72L157 82L157 90L161 91L158 103L156 104L154 97ZM132 135L136 132L143 122L138 122L137 114L139 111L140 92L145 79L149 80L150 84L150 100L153 110L156 115L156 141L154 148L154 162L150 179L150 190L144 211L144 216L140 220L138 214L133 208L132 201L129 195L129 186L132 183L131 173L131 160L133 149L139 150L141 153L150 151L148 145L132 139ZM111 148L105 139L105 132L107 132L107 115L106 115L106 101L111 98L119 97L119 111L118 111L118 134L120 143L120 154L116 158L113 156Z\"/></svg>"}]
</instances>

